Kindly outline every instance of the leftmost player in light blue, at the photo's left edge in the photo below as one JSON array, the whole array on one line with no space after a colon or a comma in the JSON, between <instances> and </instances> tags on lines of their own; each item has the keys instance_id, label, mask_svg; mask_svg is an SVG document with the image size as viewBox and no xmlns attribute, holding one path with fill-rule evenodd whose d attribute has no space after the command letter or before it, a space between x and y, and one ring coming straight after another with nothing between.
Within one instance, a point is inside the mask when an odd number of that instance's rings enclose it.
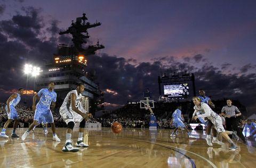
<instances>
[{"instance_id":1,"label":"leftmost player in light blue, at the photo's left edge","mask_svg":"<svg viewBox=\"0 0 256 168\"><path fill-rule=\"evenodd\" d=\"M19 88L18 89L18 93L14 93L12 94L9 99L7 99L6 102L6 106L5 106L5 110L7 112L7 116L8 116L8 120L6 121L6 123L4 124L3 130L0 133L0 137L4 137L4 138L9 138L6 134L5 134L5 130L6 128L8 128L8 125L14 120L14 124L13 124L13 131L12 131L12 137L13 138L19 138L19 136L15 133L15 130L17 128L17 125L19 123L19 115L15 109L15 106L20 102L20 96L23 95L23 88Z\"/></svg>"}]
</instances>

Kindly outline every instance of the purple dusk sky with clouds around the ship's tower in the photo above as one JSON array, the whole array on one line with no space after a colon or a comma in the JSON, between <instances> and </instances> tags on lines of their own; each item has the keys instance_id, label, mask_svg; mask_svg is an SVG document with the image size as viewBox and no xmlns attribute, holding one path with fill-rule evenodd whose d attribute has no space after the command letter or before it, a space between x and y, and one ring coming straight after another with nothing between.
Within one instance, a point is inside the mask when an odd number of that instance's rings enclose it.
<instances>
[{"instance_id":1,"label":"purple dusk sky with clouds around the ship's tower","mask_svg":"<svg viewBox=\"0 0 256 168\"><path fill-rule=\"evenodd\" d=\"M105 49L90 57L88 69L97 74L107 103L138 100L145 88L155 90L157 97L161 69L189 67L197 89L204 88L213 99L238 99L255 113L255 5L255 1L0 1L0 61L5 62L0 67L4 79L0 100L26 86L23 64L42 65L58 44L71 44L58 32L86 13L89 22L102 23L89 29L89 44L99 39Z\"/></svg>"}]
</instances>

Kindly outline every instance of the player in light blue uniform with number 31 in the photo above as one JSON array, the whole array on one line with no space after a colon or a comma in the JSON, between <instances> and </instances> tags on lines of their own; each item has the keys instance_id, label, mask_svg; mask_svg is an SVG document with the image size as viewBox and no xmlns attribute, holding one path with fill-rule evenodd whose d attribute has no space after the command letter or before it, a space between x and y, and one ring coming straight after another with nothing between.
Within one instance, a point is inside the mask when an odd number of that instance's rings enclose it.
<instances>
[{"instance_id":1,"label":"player in light blue uniform with number 31","mask_svg":"<svg viewBox=\"0 0 256 168\"><path fill-rule=\"evenodd\" d=\"M34 122L29 125L27 131L25 131L21 137L22 140L25 140L26 137L29 135L29 131L31 131L35 125L38 124L39 120L42 120L42 116L45 117L45 122L51 124L52 133L53 133L53 140L60 141L60 138L57 136L55 131L55 124L52 116L52 112L50 110L50 106L52 104L52 110L55 107L55 102L57 98L57 94L53 91L54 83L50 82L48 84L48 88L41 89L34 97L33 97L33 106L32 110L35 110L34 114ZM39 99L39 102L36 105L36 99Z\"/></svg>"}]
</instances>

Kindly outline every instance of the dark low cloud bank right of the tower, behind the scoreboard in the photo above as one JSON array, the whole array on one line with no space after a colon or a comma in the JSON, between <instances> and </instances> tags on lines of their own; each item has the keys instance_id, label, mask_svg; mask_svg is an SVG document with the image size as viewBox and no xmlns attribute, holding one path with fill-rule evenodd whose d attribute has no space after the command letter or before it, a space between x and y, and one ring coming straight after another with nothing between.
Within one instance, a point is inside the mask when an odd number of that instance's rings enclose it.
<instances>
[{"instance_id":1,"label":"dark low cloud bank right of the tower, behind the scoreboard","mask_svg":"<svg viewBox=\"0 0 256 168\"><path fill-rule=\"evenodd\" d=\"M202 60L202 56L195 55L193 58L197 61ZM170 59L171 62L169 62ZM204 62L195 67L189 63L179 62L173 57L159 57L154 60L150 63L141 62L133 65L125 58L102 54L90 56L87 68L94 70L102 90L109 89L118 93L105 94L105 100L109 103L125 104L127 100L138 101L142 98L142 92L146 88L149 88L154 98L157 99L157 77L165 67L163 63L169 62L169 67L189 67L190 72L195 74L196 89L204 88L207 95L213 99L231 97L240 100L249 109L256 110L254 105L256 101L255 73L223 74L221 68L213 66L211 62ZM226 63L223 66L229 66L229 64Z\"/></svg>"}]
</instances>

